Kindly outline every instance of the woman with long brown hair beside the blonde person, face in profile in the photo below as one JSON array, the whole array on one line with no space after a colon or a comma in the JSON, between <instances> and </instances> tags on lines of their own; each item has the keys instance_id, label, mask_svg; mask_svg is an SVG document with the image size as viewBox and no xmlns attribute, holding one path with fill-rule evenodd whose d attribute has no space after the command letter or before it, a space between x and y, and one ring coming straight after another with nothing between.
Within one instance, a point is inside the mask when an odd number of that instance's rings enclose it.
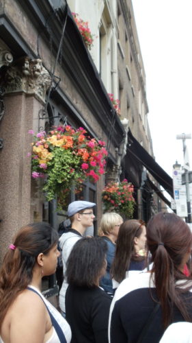
<instances>
[{"instance_id":1,"label":"woman with long brown hair beside the blonde person, face in profile","mask_svg":"<svg viewBox=\"0 0 192 343\"><path fill-rule=\"evenodd\" d=\"M113 289L117 288L129 271L143 270L146 260L146 225L142 220L126 220L116 242L115 258L111 265ZM131 274L131 273L130 273Z\"/></svg>"}]
</instances>

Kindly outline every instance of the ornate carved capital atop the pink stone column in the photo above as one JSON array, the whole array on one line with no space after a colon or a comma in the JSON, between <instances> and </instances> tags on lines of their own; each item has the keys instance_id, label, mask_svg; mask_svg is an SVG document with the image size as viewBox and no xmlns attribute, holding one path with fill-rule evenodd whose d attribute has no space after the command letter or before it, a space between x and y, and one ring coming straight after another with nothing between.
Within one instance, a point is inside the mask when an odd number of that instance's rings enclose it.
<instances>
[{"instance_id":1,"label":"ornate carved capital atop the pink stone column","mask_svg":"<svg viewBox=\"0 0 192 343\"><path fill-rule=\"evenodd\" d=\"M51 76L42 66L40 59L31 60L29 57L21 58L9 67L3 78L5 93L23 91L36 95L45 102L46 91L51 85Z\"/></svg>"}]
</instances>

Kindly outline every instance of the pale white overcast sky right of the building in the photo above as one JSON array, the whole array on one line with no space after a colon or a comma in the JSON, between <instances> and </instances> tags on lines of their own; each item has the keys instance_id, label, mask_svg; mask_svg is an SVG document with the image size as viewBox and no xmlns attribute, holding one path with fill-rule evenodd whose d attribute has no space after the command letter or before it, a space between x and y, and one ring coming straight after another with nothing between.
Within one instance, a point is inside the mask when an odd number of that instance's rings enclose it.
<instances>
[{"instance_id":1,"label":"pale white overcast sky right of the building","mask_svg":"<svg viewBox=\"0 0 192 343\"><path fill-rule=\"evenodd\" d=\"M184 164L182 140L192 134L192 0L132 0L156 162L172 176ZM192 169L192 139L187 139Z\"/></svg>"}]
</instances>

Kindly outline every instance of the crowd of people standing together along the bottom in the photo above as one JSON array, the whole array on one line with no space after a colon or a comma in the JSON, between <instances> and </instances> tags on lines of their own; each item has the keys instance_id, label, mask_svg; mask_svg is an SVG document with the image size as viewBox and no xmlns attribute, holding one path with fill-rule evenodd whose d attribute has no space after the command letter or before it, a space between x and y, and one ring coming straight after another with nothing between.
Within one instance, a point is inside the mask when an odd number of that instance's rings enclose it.
<instances>
[{"instance_id":1,"label":"crowd of people standing together along the bottom","mask_svg":"<svg viewBox=\"0 0 192 343\"><path fill-rule=\"evenodd\" d=\"M18 230L0 272L0 342L192 342L189 226L174 213L147 224L105 213L98 236L84 237L95 206L70 203L61 237L45 222ZM58 248L61 311L41 293Z\"/></svg>"}]
</instances>

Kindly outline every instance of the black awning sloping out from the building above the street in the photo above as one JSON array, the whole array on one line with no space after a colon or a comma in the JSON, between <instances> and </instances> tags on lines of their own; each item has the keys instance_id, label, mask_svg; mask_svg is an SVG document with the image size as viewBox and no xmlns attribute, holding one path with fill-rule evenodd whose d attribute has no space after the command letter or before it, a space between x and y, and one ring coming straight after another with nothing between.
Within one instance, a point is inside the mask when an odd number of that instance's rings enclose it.
<instances>
[{"instance_id":1,"label":"black awning sloping out from the building above the street","mask_svg":"<svg viewBox=\"0 0 192 343\"><path fill-rule=\"evenodd\" d=\"M167 191L167 193L169 193L169 195L174 198L172 178L166 173L165 170L163 170L163 168L160 167L158 163L156 163L156 161L154 161L154 158L152 158L152 156L150 156L150 154L141 146L137 139L133 137L131 130L128 130L127 151L132 156L134 156L137 161L139 161L144 167L146 167L146 169L148 169L148 171L156 179L156 181L159 182L159 185L161 185L165 189L165 191Z\"/></svg>"}]
</instances>

